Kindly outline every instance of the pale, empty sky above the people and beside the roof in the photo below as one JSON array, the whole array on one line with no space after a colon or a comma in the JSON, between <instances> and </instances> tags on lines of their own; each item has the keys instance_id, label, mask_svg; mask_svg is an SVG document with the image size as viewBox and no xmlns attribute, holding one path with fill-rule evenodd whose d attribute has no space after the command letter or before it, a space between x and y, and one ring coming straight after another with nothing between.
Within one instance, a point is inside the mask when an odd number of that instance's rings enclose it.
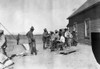
<instances>
[{"instance_id":1,"label":"pale, empty sky above the people and beside the roof","mask_svg":"<svg viewBox=\"0 0 100 69\"><path fill-rule=\"evenodd\" d=\"M34 34L65 28L66 18L86 0L0 0L0 22L12 34L25 34L34 26ZM0 29L3 29L0 26ZM9 34L5 31L5 34Z\"/></svg>"}]
</instances>

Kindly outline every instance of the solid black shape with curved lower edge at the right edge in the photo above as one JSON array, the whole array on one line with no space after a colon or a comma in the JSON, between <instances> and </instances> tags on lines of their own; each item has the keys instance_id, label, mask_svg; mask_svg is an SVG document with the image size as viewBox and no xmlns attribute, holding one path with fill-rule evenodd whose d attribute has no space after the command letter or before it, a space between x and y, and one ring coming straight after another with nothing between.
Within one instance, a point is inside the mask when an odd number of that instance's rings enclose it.
<instances>
[{"instance_id":1,"label":"solid black shape with curved lower edge at the right edge","mask_svg":"<svg viewBox=\"0 0 100 69\"><path fill-rule=\"evenodd\" d=\"M94 56L100 64L100 32L91 33L91 44Z\"/></svg>"}]
</instances>

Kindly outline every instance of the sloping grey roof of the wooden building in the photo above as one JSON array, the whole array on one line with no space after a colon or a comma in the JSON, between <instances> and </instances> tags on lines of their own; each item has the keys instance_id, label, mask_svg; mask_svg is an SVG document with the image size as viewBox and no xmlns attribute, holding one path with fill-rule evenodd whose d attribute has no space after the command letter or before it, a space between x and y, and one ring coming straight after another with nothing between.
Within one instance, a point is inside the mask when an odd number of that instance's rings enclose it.
<instances>
[{"instance_id":1,"label":"sloping grey roof of the wooden building","mask_svg":"<svg viewBox=\"0 0 100 69\"><path fill-rule=\"evenodd\" d=\"M93 6L98 2L100 2L100 0L87 0L79 9L77 9L71 16L69 16L68 19L79 14L80 12L84 11L85 9Z\"/></svg>"}]
</instances>

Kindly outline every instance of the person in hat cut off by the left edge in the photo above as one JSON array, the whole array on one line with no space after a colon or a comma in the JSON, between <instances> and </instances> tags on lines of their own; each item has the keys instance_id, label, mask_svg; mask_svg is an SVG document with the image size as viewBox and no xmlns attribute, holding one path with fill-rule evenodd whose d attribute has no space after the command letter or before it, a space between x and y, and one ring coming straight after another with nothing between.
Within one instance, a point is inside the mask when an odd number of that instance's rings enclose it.
<instances>
[{"instance_id":1,"label":"person in hat cut off by the left edge","mask_svg":"<svg viewBox=\"0 0 100 69\"><path fill-rule=\"evenodd\" d=\"M4 35L4 31L0 30L0 52L7 56L6 54L7 39Z\"/></svg>"}]
</instances>

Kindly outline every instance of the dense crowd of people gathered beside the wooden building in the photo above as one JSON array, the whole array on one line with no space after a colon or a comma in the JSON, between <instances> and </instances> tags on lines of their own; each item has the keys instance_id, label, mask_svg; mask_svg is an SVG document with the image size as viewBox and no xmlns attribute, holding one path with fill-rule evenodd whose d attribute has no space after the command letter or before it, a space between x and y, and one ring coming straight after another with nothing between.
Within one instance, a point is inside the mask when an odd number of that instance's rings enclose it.
<instances>
[{"instance_id":1,"label":"dense crowd of people gathered beside the wooden building","mask_svg":"<svg viewBox=\"0 0 100 69\"><path fill-rule=\"evenodd\" d=\"M50 31L45 28L43 32L43 49L50 48L51 51L63 50L71 46L77 46L77 32L70 32L69 29Z\"/></svg>"}]
</instances>

